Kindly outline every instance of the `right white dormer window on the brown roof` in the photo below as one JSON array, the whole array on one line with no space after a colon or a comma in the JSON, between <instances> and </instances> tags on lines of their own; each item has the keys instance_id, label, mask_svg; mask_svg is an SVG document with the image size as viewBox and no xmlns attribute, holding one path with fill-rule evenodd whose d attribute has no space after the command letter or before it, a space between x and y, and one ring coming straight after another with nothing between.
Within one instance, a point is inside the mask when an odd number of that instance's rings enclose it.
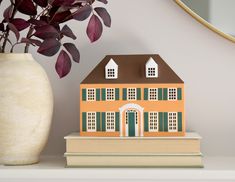
<instances>
[{"instance_id":1,"label":"right white dormer window on the brown roof","mask_svg":"<svg viewBox=\"0 0 235 182\"><path fill-rule=\"evenodd\" d=\"M153 60L152 57L149 58L145 65L146 78L157 78L158 77L158 64Z\"/></svg>"}]
</instances>

